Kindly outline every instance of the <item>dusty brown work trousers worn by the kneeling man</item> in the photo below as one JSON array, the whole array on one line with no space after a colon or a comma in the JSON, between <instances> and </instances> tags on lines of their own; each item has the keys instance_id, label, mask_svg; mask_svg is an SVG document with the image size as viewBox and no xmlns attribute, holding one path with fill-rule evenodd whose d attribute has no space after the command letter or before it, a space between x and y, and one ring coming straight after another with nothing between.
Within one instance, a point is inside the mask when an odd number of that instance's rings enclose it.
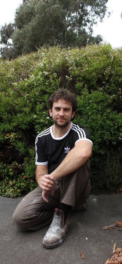
<instances>
[{"instance_id":1,"label":"dusty brown work trousers worn by the kneeling man","mask_svg":"<svg viewBox=\"0 0 122 264\"><path fill-rule=\"evenodd\" d=\"M79 169L61 178L54 196L48 191L48 203L43 200L40 187L27 194L13 213L13 225L23 231L38 230L52 222L54 209L60 203L74 206L87 200L91 191L89 164L88 159Z\"/></svg>"}]
</instances>

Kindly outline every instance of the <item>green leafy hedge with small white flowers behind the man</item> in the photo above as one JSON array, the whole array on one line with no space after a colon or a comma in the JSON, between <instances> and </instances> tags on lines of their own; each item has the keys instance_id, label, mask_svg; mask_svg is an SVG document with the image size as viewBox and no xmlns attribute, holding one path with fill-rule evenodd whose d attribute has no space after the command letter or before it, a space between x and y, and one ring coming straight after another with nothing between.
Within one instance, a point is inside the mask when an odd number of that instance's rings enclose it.
<instances>
[{"instance_id":1,"label":"green leafy hedge with small white flowers behind the man","mask_svg":"<svg viewBox=\"0 0 122 264\"><path fill-rule=\"evenodd\" d=\"M52 125L48 97L57 89L74 92L74 122L93 141L92 193L122 185L122 49L110 45L62 50L41 48L0 61L0 194L16 197L35 183L34 142Z\"/></svg>"}]
</instances>

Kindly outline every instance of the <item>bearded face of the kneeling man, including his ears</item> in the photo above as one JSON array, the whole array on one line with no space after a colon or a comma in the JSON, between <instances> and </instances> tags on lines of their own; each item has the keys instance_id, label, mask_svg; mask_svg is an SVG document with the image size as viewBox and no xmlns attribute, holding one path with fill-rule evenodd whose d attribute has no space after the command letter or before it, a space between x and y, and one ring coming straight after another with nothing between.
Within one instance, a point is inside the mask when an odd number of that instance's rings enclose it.
<instances>
[{"instance_id":1,"label":"bearded face of the kneeling man, including his ears","mask_svg":"<svg viewBox=\"0 0 122 264\"><path fill-rule=\"evenodd\" d=\"M49 113L56 127L67 127L75 114L72 112L72 105L63 99L54 102Z\"/></svg>"}]
</instances>

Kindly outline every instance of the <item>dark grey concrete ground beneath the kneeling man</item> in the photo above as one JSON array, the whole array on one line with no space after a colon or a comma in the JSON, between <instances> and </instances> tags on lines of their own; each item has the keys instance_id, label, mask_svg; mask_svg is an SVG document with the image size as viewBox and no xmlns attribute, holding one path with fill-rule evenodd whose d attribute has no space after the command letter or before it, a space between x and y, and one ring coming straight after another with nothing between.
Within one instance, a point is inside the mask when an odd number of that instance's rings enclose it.
<instances>
[{"instance_id":1,"label":"dark grey concrete ground beneath the kneeling man","mask_svg":"<svg viewBox=\"0 0 122 264\"><path fill-rule=\"evenodd\" d=\"M104 264L115 242L122 247L120 227L102 230L122 221L122 193L90 195L87 211L70 212L66 239L53 249L42 246L49 226L21 232L12 225L13 212L21 199L0 196L0 264Z\"/></svg>"}]
</instances>

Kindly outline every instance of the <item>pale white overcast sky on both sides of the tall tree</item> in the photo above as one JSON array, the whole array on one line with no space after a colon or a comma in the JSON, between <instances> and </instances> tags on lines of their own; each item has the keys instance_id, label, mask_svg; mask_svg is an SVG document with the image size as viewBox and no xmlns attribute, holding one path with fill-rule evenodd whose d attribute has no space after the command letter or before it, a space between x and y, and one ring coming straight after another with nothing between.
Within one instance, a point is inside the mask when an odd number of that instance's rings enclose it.
<instances>
[{"instance_id":1,"label":"pale white overcast sky on both sides of the tall tree","mask_svg":"<svg viewBox=\"0 0 122 264\"><path fill-rule=\"evenodd\" d=\"M3 0L0 4L0 26L10 21L14 21L14 14L16 8L22 3L22 0ZM101 34L103 40L112 45L112 48L122 46L122 19L120 14L122 12L122 0L108 0L108 11L113 13L109 18L104 18L103 23L98 23L93 27L93 35Z\"/></svg>"}]
</instances>

